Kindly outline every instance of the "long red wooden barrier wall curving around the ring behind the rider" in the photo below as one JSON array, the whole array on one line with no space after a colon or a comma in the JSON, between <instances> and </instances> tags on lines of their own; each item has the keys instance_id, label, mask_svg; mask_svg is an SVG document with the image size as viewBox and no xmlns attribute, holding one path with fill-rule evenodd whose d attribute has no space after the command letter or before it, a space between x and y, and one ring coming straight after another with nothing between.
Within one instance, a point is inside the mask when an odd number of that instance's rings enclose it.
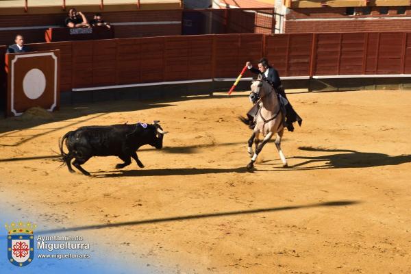
<instances>
[{"instance_id":1,"label":"long red wooden barrier wall curving around the ring behind the rider","mask_svg":"<svg viewBox=\"0 0 411 274\"><path fill-rule=\"evenodd\" d=\"M404 32L162 36L29 47L33 51L60 49L62 91L234 78L245 62L256 65L262 56L282 77L411 73L411 33Z\"/></svg>"}]
</instances>

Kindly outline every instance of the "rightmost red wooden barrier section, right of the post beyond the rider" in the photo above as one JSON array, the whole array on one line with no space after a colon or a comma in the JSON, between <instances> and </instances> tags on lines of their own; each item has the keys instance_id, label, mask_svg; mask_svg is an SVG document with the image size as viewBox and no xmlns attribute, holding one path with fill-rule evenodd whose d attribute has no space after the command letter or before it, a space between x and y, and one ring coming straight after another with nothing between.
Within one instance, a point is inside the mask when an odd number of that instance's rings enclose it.
<instances>
[{"instance_id":1,"label":"rightmost red wooden barrier section, right of the post beyond the rider","mask_svg":"<svg viewBox=\"0 0 411 274\"><path fill-rule=\"evenodd\" d=\"M403 32L316 34L313 75L406 73L408 45Z\"/></svg>"}]
</instances>

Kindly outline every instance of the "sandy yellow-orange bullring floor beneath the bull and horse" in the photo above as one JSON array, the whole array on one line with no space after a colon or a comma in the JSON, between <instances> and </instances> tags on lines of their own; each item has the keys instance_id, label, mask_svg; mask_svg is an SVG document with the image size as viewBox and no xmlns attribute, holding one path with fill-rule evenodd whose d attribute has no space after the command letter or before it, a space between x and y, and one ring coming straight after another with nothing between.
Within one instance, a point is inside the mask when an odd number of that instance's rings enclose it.
<instances>
[{"instance_id":1,"label":"sandy yellow-orange bullring floor beneath the bull and horse","mask_svg":"<svg viewBox=\"0 0 411 274\"><path fill-rule=\"evenodd\" d=\"M159 273L411 273L411 93L301 92L303 126L249 173L251 104L232 97L114 101L0 120L0 196L40 221L102 239ZM60 167L82 125L160 120L164 149L135 162ZM23 206L21 206L23 203Z\"/></svg>"}]
</instances>

